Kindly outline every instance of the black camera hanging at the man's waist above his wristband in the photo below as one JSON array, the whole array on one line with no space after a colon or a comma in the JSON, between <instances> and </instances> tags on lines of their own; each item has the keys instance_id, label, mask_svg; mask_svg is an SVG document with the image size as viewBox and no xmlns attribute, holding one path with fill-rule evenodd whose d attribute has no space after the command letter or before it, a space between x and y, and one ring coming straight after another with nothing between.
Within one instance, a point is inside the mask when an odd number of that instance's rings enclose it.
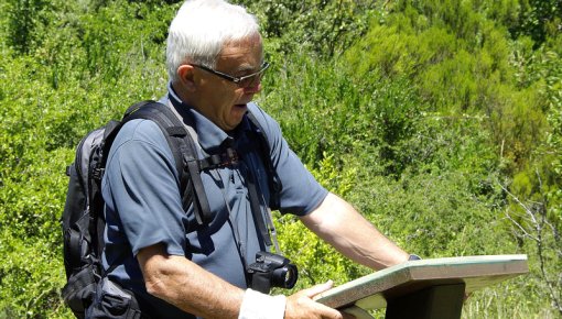
<instances>
[{"instance_id":1,"label":"black camera hanging at the man's waist above his wristband","mask_svg":"<svg viewBox=\"0 0 562 319\"><path fill-rule=\"evenodd\" d=\"M268 252L257 252L256 263L248 266L247 273L249 287L263 294L269 294L271 287L291 289L299 278L290 260Z\"/></svg>"}]
</instances>

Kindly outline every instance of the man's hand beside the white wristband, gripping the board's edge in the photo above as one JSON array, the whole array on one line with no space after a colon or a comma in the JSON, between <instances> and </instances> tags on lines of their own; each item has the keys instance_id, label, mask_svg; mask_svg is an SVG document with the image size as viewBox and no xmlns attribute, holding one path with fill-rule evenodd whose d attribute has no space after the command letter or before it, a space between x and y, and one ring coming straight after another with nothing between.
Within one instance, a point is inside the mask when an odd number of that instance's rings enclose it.
<instances>
[{"instance_id":1,"label":"man's hand beside the white wristband, gripping the board's edge","mask_svg":"<svg viewBox=\"0 0 562 319\"><path fill-rule=\"evenodd\" d=\"M350 319L355 318L350 315L339 312L327 306L318 304L312 298L329 288L333 282L328 280L325 284L320 284L307 289L300 290L287 298L285 319L299 318L331 318L331 319Z\"/></svg>"}]
</instances>

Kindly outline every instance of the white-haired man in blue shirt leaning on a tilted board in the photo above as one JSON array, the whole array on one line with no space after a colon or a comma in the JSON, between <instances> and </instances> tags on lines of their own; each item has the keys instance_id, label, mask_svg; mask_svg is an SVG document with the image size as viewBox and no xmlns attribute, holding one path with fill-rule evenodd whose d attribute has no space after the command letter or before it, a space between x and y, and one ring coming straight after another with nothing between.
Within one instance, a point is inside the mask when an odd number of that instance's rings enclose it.
<instances>
[{"instance_id":1,"label":"white-haired man in blue shirt leaning on a tilted board","mask_svg":"<svg viewBox=\"0 0 562 319\"><path fill-rule=\"evenodd\" d=\"M270 218L273 196L267 186L273 177L256 147L249 113L267 136L268 161L282 186L282 213L296 215L339 252L374 270L409 258L349 204L318 185L278 123L251 102L269 66L253 15L223 0L186 1L170 26L166 64L170 85L161 102L190 123L201 154L230 147L239 161L202 172L213 216L208 224L197 226L193 207L182 208L174 156L156 124L133 120L119 132L102 183L104 263L108 278L133 293L144 316L343 318L312 299L329 282L289 297L249 286L248 266L267 246L257 223ZM257 185L257 200L250 184Z\"/></svg>"}]
</instances>

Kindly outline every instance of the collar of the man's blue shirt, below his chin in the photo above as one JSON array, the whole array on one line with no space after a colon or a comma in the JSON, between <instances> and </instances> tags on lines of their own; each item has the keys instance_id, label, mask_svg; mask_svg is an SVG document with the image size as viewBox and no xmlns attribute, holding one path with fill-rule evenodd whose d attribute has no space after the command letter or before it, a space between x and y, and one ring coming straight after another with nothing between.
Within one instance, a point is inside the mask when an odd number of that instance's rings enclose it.
<instances>
[{"instance_id":1,"label":"collar of the man's blue shirt, below his chin","mask_svg":"<svg viewBox=\"0 0 562 319\"><path fill-rule=\"evenodd\" d=\"M193 107L183 102L175 92L171 82L167 86L167 100L170 100L172 106L183 118L183 122L193 127L197 133L201 147L208 154L214 154L225 146L233 145L241 132L251 130L248 117L245 116L242 122L234 130L234 132L230 135L227 134Z\"/></svg>"}]
</instances>

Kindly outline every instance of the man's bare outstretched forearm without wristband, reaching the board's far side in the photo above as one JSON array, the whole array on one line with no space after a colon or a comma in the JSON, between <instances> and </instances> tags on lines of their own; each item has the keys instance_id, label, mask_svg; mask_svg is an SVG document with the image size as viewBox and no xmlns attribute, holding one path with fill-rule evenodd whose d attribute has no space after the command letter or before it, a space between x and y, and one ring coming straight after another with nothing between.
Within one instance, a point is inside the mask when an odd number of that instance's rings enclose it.
<instances>
[{"instance_id":1,"label":"man's bare outstretched forearm without wristband, reaching the board's far side","mask_svg":"<svg viewBox=\"0 0 562 319\"><path fill-rule=\"evenodd\" d=\"M370 268L381 270L408 260L409 255L403 250L334 194L301 219L337 251Z\"/></svg>"}]
</instances>

